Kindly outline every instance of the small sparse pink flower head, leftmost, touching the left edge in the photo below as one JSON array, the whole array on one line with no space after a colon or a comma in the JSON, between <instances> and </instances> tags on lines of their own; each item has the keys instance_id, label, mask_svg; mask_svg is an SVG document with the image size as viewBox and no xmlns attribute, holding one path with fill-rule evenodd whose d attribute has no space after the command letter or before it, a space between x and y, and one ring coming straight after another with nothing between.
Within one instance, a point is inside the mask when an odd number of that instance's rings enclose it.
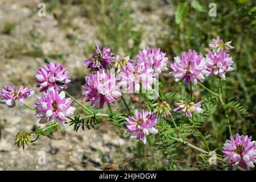
<instances>
[{"instance_id":1,"label":"small sparse pink flower head, leftmost, touching the left edge","mask_svg":"<svg viewBox=\"0 0 256 182\"><path fill-rule=\"evenodd\" d=\"M31 88L23 88L23 85L19 86L19 89L13 89L10 85L5 85L5 89L0 92L0 96L3 98L0 99L1 104L6 104L8 107L15 107L15 101L19 100L20 104L24 104L24 99L32 96L34 91Z\"/></svg>"}]
</instances>

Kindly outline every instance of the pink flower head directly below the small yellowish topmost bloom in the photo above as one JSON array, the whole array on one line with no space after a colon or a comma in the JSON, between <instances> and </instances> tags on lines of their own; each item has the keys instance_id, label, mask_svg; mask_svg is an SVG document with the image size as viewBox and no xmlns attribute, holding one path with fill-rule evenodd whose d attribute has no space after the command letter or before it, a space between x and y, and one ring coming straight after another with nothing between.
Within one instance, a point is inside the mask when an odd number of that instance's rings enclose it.
<instances>
[{"instance_id":1,"label":"pink flower head directly below the small yellowish topmost bloom","mask_svg":"<svg viewBox=\"0 0 256 182\"><path fill-rule=\"evenodd\" d=\"M225 80L225 73L234 70L231 67L234 63L232 56L228 54L228 51L223 51L223 49L218 49L217 53L215 50L209 51L206 55L205 63L206 69L209 72L206 76L219 75Z\"/></svg>"}]
</instances>

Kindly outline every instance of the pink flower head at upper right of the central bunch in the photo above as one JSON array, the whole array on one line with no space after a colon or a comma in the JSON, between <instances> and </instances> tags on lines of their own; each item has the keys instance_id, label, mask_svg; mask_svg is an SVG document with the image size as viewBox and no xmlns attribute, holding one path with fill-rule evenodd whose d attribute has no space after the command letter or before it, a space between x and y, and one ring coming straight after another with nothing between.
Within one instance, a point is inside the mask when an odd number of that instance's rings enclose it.
<instances>
[{"instance_id":1,"label":"pink flower head at upper right of the central bunch","mask_svg":"<svg viewBox=\"0 0 256 182\"><path fill-rule=\"evenodd\" d=\"M155 73L161 73L167 71L168 57L165 57L166 53L163 53L159 48L154 47L151 49L147 46L146 49L139 51L137 55L137 61L144 62L151 65Z\"/></svg>"}]
</instances>

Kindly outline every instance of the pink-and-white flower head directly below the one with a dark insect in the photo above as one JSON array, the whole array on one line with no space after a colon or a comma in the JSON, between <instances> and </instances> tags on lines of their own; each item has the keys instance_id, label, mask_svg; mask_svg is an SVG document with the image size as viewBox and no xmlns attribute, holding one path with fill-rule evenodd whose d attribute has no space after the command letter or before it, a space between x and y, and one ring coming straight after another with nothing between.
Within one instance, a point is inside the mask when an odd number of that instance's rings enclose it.
<instances>
[{"instance_id":1,"label":"pink-and-white flower head directly below the one with a dark insect","mask_svg":"<svg viewBox=\"0 0 256 182\"><path fill-rule=\"evenodd\" d=\"M65 92L57 92L57 90L49 90L47 93L42 93L38 98L38 103L34 105L36 109L35 116L41 118L39 123L47 123L48 121L59 121L64 126L67 121L66 117L70 117L76 110L71 106L73 100L65 98Z\"/></svg>"}]
</instances>

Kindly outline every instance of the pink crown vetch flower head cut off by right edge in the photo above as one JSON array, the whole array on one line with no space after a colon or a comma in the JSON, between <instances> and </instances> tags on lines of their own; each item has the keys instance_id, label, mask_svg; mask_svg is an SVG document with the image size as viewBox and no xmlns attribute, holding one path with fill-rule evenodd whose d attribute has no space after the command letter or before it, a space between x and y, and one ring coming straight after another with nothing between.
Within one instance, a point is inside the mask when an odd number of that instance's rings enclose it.
<instances>
[{"instance_id":1,"label":"pink crown vetch flower head cut off by right edge","mask_svg":"<svg viewBox=\"0 0 256 182\"><path fill-rule=\"evenodd\" d=\"M230 136L223 146L224 162L229 163L236 170L238 166L247 170L253 168L256 163L256 144L251 137L236 134L236 139Z\"/></svg>"}]
</instances>

